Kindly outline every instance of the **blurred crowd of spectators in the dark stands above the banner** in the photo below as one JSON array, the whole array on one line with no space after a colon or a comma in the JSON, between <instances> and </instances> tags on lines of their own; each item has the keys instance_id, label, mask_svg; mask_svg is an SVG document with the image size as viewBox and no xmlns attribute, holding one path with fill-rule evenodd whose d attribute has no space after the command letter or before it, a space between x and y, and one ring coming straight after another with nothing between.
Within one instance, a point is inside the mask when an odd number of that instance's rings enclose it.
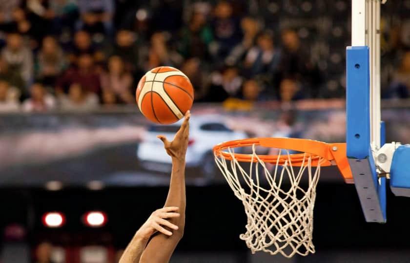
<instances>
[{"instance_id":1,"label":"blurred crowd of spectators in the dark stands above the banner","mask_svg":"<svg viewBox=\"0 0 410 263\"><path fill-rule=\"evenodd\" d=\"M408 2L383 9L387 98L410 97ZM349 4L0 0L0 112L135 104L136 83L158 66L188 75L197 102L344 97Z\"/></svg>"}]
</instances>

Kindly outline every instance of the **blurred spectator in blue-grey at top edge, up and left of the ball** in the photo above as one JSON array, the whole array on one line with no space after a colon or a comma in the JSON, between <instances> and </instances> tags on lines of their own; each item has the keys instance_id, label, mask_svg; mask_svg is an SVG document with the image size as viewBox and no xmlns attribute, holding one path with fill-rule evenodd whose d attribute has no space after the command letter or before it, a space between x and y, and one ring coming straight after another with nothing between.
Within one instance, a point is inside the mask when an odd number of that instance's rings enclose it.
<instances>
[{"instance_id":1,"label":"blurred spectator in blue-grey at top edge, up and left of the ball","mask_svg":"<svg viewBox=\"0 0 410 263\"><path fill-rule=\"evenodd\" d=\"M90 33L113 33L114 0L78 0L82 29Z\"/></svg>"}]
</instances>

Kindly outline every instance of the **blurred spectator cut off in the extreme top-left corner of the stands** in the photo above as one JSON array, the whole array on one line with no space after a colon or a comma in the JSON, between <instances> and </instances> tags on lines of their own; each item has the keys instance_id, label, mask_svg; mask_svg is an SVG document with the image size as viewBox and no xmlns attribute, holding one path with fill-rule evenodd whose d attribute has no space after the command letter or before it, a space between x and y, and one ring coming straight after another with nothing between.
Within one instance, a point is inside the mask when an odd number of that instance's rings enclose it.
<instances>
[{"instance_id":1,"label":"blurred spectator cut off in the extreme top-left corner of the stands","mask_svg":"<svg viewBox=\"0 0 410 263\"><path fill-rule=\"evenodd\" d=\"M0 0L0 31L12 32L18 28L21 0ZM17 16L16 16L17 15Z\"/></svg>"}]
</instances>

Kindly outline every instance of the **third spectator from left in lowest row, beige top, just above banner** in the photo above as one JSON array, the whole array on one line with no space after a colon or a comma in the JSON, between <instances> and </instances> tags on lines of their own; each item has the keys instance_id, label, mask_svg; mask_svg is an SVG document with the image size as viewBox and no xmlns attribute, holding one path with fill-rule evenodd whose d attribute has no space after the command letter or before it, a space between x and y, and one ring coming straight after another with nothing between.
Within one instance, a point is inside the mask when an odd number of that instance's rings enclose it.
<instances>
[{"instance_id":1,"label":"third spectator from left in lowest row, beige top, just above banner","mask_svg":"<svg viewBox=\"0 0 410 263\"><path fill-rule=\"evenodd\" d=\"M98 96L84 91L79 83L71 84L68 96L60 96L61 109L64 111L90 111L98 108Z\"/></svg>"}]
</instances>

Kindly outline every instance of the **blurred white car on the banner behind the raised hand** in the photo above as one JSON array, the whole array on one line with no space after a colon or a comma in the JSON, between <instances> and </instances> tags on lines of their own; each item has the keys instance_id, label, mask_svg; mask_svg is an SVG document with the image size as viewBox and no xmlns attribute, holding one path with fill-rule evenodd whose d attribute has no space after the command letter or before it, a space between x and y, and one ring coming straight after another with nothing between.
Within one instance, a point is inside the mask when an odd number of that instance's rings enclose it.
<instances>
[{"instance_id":1,"label":"blurred white car on the banner behind the raised hand","mask_svg":"<svg viewBox=\"0 0 410 263\"><path fill-rule=\"evenodd\" d=\"M143 168L152 171L171 171L171 158L164 150L163 142L157 135L165 135L172 140L179 130L182 120L171 125L151 125L143 142L137 149L137 157ZM244 139L246 133L229 129L224 119L216 115L193 115L189 121L189 142L186 150L186 167L200 168L203 175L213 178L217 172L212 148L221 142Z\"/></svg>"}]
</instances>

